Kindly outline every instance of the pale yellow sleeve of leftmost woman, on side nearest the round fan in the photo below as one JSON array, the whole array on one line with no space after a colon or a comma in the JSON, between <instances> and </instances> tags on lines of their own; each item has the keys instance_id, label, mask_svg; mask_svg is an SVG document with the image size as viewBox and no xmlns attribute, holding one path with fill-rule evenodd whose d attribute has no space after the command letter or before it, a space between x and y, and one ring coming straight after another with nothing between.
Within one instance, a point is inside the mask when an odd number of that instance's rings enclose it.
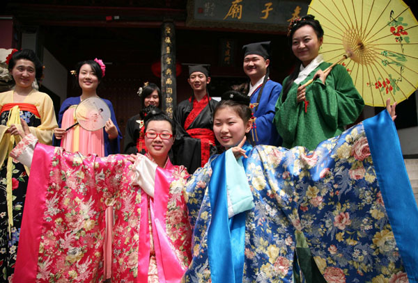
<instances>
[{"instance_id":1,"label":"pale yellow sleeve of leftmost woman, on side nearest the round fan","mask_svg":"<svg viewBox=\"0 0 418 283\"><path fill-rule=\"evenodd\" d=\"M52 145L52 135L54 134L54 128L58 127L55 118L54 104L51 97L44 94L42 103L38 106L38 112L40 115L40 125L38 127L29 127L31 134L38 138L40 143L45 145Z\"/></svg>"}]
</instances>

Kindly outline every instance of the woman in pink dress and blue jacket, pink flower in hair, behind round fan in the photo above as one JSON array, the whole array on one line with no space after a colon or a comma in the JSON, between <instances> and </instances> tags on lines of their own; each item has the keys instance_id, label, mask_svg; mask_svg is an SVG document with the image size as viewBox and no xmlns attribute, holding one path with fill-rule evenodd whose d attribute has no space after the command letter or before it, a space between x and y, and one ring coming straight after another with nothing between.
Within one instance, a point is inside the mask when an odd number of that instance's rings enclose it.
<instances>
[{"instance_id":1,"label":"woman in pink dress and blue jacket, pink flower in hair, behind round fan","mask_svg":"<svg viewBox=\"0 0 418 283\"><path fill-rule=\"evenodd\" d=\"M72 127L77 122L75 118L77 106L84 99L98 97L97 89L104 77L105 70L106 66L98 58L77 63L74 72L77 86L82 90L82 95L79 97L68 97L61 105L58 115L59 127L54 129L53 144L55 146L63 147L67 152L80 152L84 155L97 154L98 156L108 156L109 154L118 154L120 152L122 134L116 122L114 108L109 100L103 99L103 102L109 107L111 118L106 121L102 129L87 131L80 127L79 124ZM107 278L111 277L113 215L113 209L109 207L105 214L107 234L105 235L104 246L104 269Z\"/></svg>"}]
</instances>

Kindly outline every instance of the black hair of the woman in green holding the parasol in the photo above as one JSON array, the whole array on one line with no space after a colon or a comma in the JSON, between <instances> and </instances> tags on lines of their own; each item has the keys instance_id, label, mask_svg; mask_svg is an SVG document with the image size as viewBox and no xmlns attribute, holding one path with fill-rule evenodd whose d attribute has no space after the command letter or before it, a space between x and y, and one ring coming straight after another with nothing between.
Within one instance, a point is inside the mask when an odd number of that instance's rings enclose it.
<instances>
[{"instance_id":1,"label":"black hair of the woman in green holding the parasol","mask_svg":"<svg viewBox=\"0 0 418 283\"><path fill-rule=\"evenodd\" d=\"M306 25L312 26L312 29L314 29L316 36L318 36L318 38L322 38L324 36L324 31L323 31L322 26L320 26L318 19L315 19L313 15L306 15L304 17L301 17L300 19L294 19L289 25L289 33L288 33L288 44L291 48L292 48L293 34L295 33L295 31L297 31L297 29L300 29L302 26L306 26ZM283 88L283 93L281 94L282 102L286 100L288 92L292 87L293 81L295 81L295 79L297 79L297 76L299 76L300 65L302 65L302 61L296 58L295 70L293 70L291 75L288 76L286 85Z\"/></svg>"}]
</instances>

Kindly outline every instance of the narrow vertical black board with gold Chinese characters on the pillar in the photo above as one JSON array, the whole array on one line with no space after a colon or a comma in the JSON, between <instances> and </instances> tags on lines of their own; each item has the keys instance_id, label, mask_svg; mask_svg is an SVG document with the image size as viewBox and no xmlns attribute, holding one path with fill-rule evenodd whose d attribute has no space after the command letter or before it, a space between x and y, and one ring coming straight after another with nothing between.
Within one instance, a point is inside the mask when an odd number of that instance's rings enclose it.
<instances>
[{"instance_id":1,"label":"narrow vertical black board with gold Chinese characters on the pillar","mask_svg":"<svg viewBox=\"0 0 418 283\"><path fill-rule=\"evenodd\" d=\"M173 118L173 105L176 104L176 45L175 28L172 22L162 24L161 45L161 91L162 108Z\"/></svg>"}]
</instances>

